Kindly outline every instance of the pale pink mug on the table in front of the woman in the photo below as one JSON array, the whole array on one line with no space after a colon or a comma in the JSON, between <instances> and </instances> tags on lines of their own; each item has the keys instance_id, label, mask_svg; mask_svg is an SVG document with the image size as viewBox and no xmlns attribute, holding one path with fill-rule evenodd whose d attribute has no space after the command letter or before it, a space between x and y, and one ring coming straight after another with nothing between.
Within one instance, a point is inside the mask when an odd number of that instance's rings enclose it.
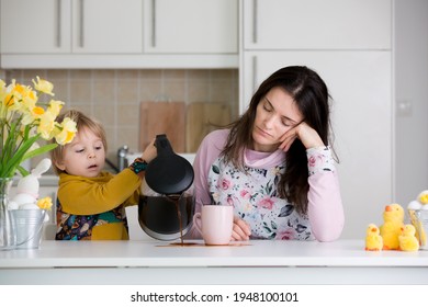
<instances>
[{"instance_id":1,"label":"pale pink mug on the table in front of the woman","mask_svg":"<svg viewBox=\"0 0 428 307\"><path fill-rule=\"evenodd\" d=\"M232 238L234 207L204 205L193 216L193 224L207 246L225 246Z\"/></svg>"}]
</instances>

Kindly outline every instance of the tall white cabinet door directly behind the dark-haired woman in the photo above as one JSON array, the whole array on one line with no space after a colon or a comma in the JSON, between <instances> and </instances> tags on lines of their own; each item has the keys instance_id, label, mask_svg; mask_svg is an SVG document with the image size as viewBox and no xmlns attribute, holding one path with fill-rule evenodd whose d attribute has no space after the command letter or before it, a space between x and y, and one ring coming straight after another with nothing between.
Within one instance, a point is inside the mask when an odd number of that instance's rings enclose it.
<instances>
[{"instance_id":1,"label":"tall white cabinet door directly behind the dark-haired woman","mask_svg":"<svg viewBox=\"0 0 428 307\"><path fill-rule=\"evenodd\" d=\"M378 223L393 197L391 52L248 52L244 61L241 112L255 87L281 67L305 65L327 83L348 217L343 236L360 238L356 231Z\"/></svg>"}]
</instances>

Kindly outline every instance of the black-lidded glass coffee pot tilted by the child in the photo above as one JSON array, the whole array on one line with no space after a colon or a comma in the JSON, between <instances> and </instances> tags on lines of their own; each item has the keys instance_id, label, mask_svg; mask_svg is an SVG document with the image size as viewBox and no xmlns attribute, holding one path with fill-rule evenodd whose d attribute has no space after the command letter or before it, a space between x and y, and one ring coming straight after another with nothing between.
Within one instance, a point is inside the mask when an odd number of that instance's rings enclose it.
<instances>
[{"instance_id":1,"label":"black-lidded glass coffee pot tilted by the child","mask_svg":"<svg viewBox=\"0 0 428 307\"><path fill-rule=\"evenodd\" d=\"M146 169L145 180L156 195L143 195L138 203L138 223L143 230L158 240L174 240L192 226L194 196L192 164L173 152L164 135L155 140L157 157Z\"/></svg>"}]
</instances>

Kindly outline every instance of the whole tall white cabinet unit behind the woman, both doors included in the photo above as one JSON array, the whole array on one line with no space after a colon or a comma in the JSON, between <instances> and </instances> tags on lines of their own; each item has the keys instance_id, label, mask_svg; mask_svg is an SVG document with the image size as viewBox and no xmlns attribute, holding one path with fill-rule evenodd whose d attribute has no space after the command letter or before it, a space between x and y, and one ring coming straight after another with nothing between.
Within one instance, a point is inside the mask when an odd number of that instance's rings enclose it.
<instances>
[{"instance_id":1,"label":"whole tall white cabinet unit behind the woman, both doors included","mask_svg":"<svg viewBox=\"0 0 428 307\"><path fill-rule=\"evenodd\" d=\"M345 238L361 238L368 224L381 224L384 206L393 201L391 3L240 1L240 113L259 84L284 66L307 66L329 88Z\"/></svg>"}]
</instances>

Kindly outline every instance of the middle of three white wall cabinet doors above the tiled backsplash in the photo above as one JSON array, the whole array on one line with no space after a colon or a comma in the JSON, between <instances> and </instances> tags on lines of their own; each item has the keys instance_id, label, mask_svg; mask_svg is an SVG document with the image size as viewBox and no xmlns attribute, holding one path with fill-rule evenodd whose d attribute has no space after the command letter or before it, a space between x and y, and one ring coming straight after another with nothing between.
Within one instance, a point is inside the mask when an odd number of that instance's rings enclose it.
<instances>
[{"instance_id":1,"label":"middle of three white wall cabinet doors above the tiled backsplash","mask_svg":"<svg viewBox=\"0 0 428 307\"><path fill-rule=\"evenodd\" d=\"M74 0L72 53L143 52L142 0Z\"/></svg>"}]
</instances>

